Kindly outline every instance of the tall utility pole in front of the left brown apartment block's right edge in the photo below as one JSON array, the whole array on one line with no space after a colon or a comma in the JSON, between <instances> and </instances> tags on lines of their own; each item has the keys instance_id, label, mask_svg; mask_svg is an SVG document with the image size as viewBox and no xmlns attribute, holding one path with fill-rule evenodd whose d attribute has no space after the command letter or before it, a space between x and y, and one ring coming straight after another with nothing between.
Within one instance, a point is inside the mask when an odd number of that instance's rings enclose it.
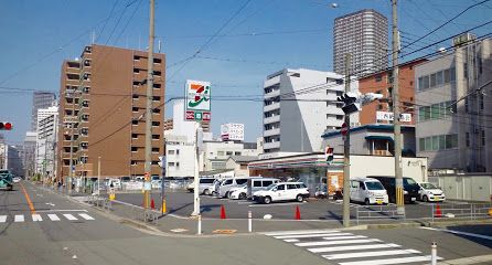
<instances>
[{"instance_id":1,"label":"tall utility pole in front of the left brown apartment block's right edge","mask_svg":"<svg viewBox=\"0 0 492 265\"><path fill-rule=\"evenodd\" d=\"M150 0L150 26L149 26L149 51L147 62L147 108L146 108L146 183L143 192L145 208L149 208L150 191L147 187L150 186L150 176L152 174L152 88L153 88L153 6L154 0Z\"/></svg>"}]
</instances>

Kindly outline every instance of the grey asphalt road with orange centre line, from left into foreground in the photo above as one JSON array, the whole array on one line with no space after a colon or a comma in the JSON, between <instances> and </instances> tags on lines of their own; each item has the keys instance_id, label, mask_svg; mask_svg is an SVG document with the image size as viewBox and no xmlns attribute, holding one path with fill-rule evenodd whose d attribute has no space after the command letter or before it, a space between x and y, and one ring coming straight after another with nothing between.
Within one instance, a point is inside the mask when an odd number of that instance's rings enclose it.
<instances>
[{"instance_id":1,"label":"grey asphalt road with orange centre line, from left into foreground","mask_svg":"<svg viewBox=\"0 0 492 265\"><path fill-rule=\"evenodd\" d=\"M285 244L261 235L149 235L31 183L22 186L26 195L21 184L0 191L0 264L325 264L302 250L286 253Z\"/></svg>"}]
</instances>

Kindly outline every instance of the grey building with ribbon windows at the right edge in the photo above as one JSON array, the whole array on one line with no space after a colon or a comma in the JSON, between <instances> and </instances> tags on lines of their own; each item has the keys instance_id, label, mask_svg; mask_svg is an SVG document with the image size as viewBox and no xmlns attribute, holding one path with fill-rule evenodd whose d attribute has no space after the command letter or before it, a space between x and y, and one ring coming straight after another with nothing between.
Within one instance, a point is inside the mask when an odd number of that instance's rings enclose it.
<instances>
[{"instance_id":1,"label":"grey building with ribbon windows at the right edge","mask_svg":"<svg viewBox=\"0 0 492 265\"><path fill-rule=\"evenodd\" d=\"M463 43L464 41L464 43ZM416 66L417 153L435 171L492 170L492 41L464 34L451 51Z\"/></svg>"}]
</instances>

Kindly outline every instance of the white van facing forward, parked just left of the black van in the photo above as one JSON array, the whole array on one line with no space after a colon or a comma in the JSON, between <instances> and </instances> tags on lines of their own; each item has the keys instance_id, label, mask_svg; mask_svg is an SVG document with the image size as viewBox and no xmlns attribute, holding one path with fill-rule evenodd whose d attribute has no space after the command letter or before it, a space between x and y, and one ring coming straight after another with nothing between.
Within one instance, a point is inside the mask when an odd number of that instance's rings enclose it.
<instances>
[{"instance_id":1,"label":"white van facing forward, parked just left of the black van","mask_svg":"<svg viewBox=\"0 0 492 265\"><path fill-rule=\"evenodd\" d=\"M388 193L376 179L355 178L350 180L350 200L366 205L387 204Z\"/></svg>"}]
</instances>

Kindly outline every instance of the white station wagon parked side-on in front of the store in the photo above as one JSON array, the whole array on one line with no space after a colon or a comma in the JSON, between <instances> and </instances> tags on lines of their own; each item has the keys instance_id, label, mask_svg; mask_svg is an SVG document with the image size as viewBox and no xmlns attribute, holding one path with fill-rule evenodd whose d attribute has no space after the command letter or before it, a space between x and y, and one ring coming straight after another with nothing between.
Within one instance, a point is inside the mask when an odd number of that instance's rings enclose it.
<instances>
[{"instance_id":1,"label":"white station wagon parked side-on in front of the store","mask_svg":"<svg viewBox=\"0 0 492 265\"><path fill-rule=\"evenodd\" d=\"M253 200L266 204L292 200L302 202L307 198L309 198L309 190L302 182L278 182L253 193Z\"/></svg>"}]
</instances>

